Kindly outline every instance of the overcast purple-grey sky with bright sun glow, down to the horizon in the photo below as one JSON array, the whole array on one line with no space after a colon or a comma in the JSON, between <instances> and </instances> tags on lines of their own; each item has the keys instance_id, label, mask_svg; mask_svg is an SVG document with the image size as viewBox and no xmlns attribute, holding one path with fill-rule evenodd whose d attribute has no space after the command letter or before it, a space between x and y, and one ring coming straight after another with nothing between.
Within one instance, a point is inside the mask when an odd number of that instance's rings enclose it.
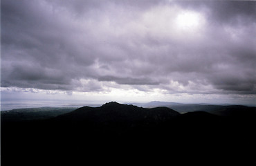
<instances>
[{"instance_id":1,"label":"overcast purple-grey sky with bright sun glow, down to the horizon","mask_svg":"<svg viewBox=\"0 0 256 166\"><path fill-rule=\"evenodd\" d=\"M256 103L255 1L1 0L1 100Z\"/></svg>"}]
</instances>

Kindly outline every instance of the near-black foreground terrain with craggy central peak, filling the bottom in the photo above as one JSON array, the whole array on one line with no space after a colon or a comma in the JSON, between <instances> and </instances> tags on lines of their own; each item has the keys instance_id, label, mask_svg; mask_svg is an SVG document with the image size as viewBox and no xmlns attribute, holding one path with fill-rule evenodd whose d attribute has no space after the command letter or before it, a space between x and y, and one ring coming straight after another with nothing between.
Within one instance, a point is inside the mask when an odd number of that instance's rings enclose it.
<instances>
[{"instance_id":1,"label":"near-black foreground terrain with craggy central peak, filling the bottom","mask_svg":"<svg viewBox=\"0 0 256 166\"><path fill-rule=\"evenodd\" d=\"M1 118L1 165L255 165L255 107L181 114L109 102Z\"/></svg>"}]
</instances>

